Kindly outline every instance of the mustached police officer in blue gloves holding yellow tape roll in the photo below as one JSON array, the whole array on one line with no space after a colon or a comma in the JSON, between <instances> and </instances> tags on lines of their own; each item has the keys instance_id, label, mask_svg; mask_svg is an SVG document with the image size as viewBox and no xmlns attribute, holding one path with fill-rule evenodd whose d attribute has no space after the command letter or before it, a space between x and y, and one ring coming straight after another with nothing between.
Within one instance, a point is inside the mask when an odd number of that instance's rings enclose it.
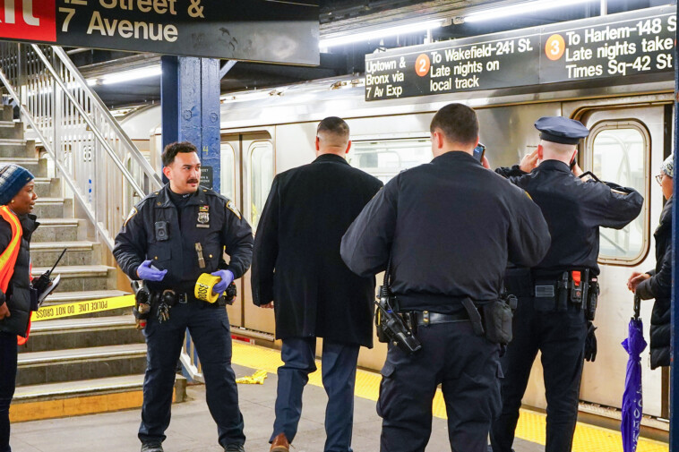
<instances>
[{"instance_id":1,"label":"mustached police officer in blue gloves holding yellow tape roll","mask_svg":"<svg viewBox=\"0 0 679 452\"><path fill-rule=\"evenodd\" d=\"M201 161L193 144L169 144L162 159L169 183L137 204L113 251L127 276L143 279L151 294L144 328L148 357L139 429L142 452L163 450L186 328L201 356L219 444L227 452L243 452L243 416L231 369L225 303L197 300L194 287L202 273L211 273L221 278L212 289L221 294L243 276L252 260L252 229L232 201L199 186ZM225 249L228 265L222 258Z\"/></svg>"}]
</instances>

